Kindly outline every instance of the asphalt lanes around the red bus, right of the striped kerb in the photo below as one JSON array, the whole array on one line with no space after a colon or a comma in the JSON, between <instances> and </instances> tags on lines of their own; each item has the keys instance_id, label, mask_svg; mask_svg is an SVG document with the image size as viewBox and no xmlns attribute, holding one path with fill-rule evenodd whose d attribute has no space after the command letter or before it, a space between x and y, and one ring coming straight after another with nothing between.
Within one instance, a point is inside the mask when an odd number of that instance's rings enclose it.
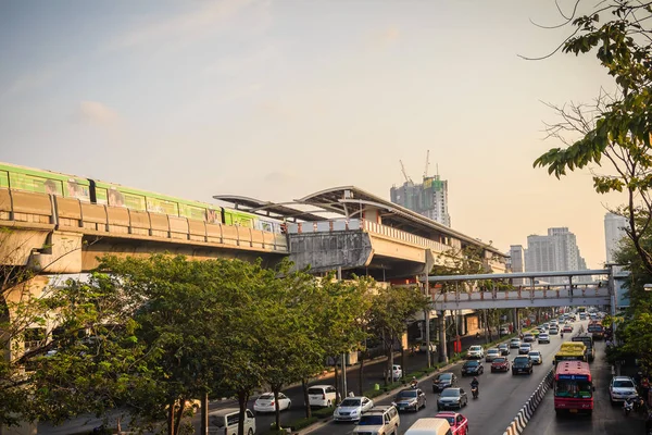
<instances>
[{"instance_id":1,"label":"asphalt lanes around the red bus, right of the striped kerb","mask_svg":"<svg viewBox=\"0 0 652 435\"><path fill-rule=\"evenodd\" d=\"M595 360L591 363L591 374L595 395L592 417L562 415L556 417L552 391L546 395L532 420L528 423L524 435L556 435L573 433L574 435L631 435L643 434L645 424L642 417L625 417L620 406L613 406L609 400L609 383L611 368L604 360L604 341L597 341Z\"/></svg>"}]
</instances>

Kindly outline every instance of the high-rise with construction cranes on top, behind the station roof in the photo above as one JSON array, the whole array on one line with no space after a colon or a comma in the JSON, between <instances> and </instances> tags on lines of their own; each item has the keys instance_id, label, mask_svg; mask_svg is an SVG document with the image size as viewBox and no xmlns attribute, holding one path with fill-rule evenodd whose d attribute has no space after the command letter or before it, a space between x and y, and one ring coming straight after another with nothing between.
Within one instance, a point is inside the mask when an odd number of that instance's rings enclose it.
<instances>
[{"instance_id":1,"label":"high-rise with construction cranes on top, behind the station roof","mask_svg":"<svg viewBox=\"0 0 652 435\"><path fill-rule=\"evenodd\" d=\"M389 190L391 202L423 214L432 221L451 226L448 212L448 181L439 175L426 176L422 184L406 181Z\"/></svg>"}]
</instances>

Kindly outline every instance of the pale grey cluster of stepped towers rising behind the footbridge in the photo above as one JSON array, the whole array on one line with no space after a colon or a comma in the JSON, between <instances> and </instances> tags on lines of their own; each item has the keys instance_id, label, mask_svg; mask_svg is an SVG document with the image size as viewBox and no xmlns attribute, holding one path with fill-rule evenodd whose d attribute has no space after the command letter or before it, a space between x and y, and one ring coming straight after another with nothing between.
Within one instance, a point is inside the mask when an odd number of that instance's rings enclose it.
<instances>
[{"instance_id":1,"label":"pale grey cluster of stepped towers rising behind the footbridge","mask_svg":"<svg viewBox=\"0 0 652 435\"><path fill-rule=\"evenodd\" d=\"M548 228L547 236L527 237L525 272L585 271L587 262L579 253L577 238L566 227ZM512 260L513 261L513 260ZM553 284L565 284L564 277L550 278ZM590 282L591 276L578 276L574 283Z\"/></svg>"}]
</instances>

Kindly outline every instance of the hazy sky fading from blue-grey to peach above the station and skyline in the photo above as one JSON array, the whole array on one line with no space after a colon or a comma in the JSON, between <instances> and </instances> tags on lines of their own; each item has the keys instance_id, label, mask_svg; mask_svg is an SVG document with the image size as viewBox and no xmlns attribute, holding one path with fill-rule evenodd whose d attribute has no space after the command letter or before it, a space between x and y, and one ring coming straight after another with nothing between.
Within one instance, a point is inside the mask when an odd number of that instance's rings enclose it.
<instances>
[{"instance_id":1,"label":"hazy sky fading from blue-grey to peach above the station and skyline","mask_svg":"<svg viewBox=\"0 0 652 435\"><path fill-rule=\"evenodd\" d=\"M543 102L613 89L592 55L519 57L562 21L553 0L2 1L0 161L206 202L389 199L429 150L453 228L506 251L567 226L600 268L625 198L532 167L562 146Z\"/></svg>"}]
</instances>

